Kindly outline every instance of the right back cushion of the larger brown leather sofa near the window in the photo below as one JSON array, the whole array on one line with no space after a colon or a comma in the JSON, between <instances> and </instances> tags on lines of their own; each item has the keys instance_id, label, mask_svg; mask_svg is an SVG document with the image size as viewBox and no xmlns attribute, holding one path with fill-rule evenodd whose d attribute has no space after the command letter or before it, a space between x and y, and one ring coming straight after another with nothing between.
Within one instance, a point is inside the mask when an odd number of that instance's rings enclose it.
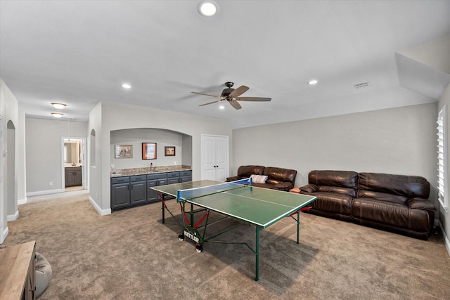
<instances>
[{"instance_id":1,"label":"right back cushion of the larger brown leather sofa near the window","mask_svg":"<svg viewBox=\"0 0 450 300\"><path fill-rule=\"evenodd\" d=\"M430 183L420 176L359 173L358 197L406 204L411 198L427 199Z\"/></svg>"}]
</instances>

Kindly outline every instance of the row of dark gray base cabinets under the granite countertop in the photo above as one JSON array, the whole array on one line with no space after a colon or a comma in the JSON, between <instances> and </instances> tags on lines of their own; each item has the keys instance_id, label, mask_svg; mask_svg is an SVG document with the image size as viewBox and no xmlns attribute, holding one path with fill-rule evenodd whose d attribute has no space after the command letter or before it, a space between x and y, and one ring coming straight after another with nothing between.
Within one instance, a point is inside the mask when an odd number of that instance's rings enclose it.
<instances>
[{"instance_id":1,"label":"row of dark gray base cabinets under the granite countertop","mask_svg":"<svg viewBox=\"0 0 450 300\"><path fill-rule=\"evenodd\" d=\"M111 178L111 209L158 202L158 193L151 188L187 181L192 181L191 170Z\"/></svg>"}]
</instances>

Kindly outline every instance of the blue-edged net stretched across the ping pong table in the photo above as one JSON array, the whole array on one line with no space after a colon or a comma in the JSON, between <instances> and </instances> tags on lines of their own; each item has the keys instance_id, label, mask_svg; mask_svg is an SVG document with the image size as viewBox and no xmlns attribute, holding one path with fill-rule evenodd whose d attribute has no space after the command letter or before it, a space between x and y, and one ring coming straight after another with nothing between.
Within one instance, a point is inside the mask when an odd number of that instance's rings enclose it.
<instances>
[{"instance_id":1,"label":"blue-edged net stretched across the ping pong table","mask_svg":"<svg viewBox=\"0 0 450 300\"><path fill-rule=\"evenodd\" d=\"M251 185L250 178L240 179L238 181L231 181L226 183L219 183L214 185L203 186L201 188L188 188L186 190L178 190L176 201L181 202L185 200L195 199L198 197L204 197L207 195L223 193L227 190L233 190L235 188L242 188L245 185Z\"/></svg>"}]
</instances>

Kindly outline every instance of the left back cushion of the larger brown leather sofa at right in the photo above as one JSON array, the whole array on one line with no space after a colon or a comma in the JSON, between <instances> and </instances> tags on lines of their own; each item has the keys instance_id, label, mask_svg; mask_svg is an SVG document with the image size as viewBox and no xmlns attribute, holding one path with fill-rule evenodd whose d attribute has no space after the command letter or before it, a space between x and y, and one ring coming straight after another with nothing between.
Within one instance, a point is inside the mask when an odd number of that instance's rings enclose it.
<instances>
[{"instance_id":1,"label":"left back cushion of the larger brown leather sofa at right","mask_svg":"<svg viewBox=\"0 0 450 300\"><path fill-rule=\"evenodd\" d=\"M321 192L356 197L358 173L355 171L314 170L309 172L308 182L316 185Z\"/></svg>"}]
</instances>

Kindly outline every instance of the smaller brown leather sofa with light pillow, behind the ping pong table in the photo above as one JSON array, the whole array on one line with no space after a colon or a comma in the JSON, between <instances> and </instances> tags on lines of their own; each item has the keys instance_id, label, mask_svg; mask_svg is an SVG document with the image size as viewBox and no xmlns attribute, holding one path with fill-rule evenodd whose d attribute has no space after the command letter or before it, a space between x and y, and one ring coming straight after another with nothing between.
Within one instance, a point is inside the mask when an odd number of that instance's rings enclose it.
<instances>
[{"instance_id":1,"label":"smaller brown leather sofa with light pillow, behind the ping pong table","mask_svg":"<svg viewBox=\"0 0 450 300\"><path fill-rule=\"evenodd\" d=\"M265 183L252 183L259 188L271 188L273 190L290 190L294 188L296 170L283 169L277 167L264 167L257 165L240 166L238 175L226 178L226 181L237 181L249 178L252 175L267 176Z\"/></svg>"}]
</instances>

